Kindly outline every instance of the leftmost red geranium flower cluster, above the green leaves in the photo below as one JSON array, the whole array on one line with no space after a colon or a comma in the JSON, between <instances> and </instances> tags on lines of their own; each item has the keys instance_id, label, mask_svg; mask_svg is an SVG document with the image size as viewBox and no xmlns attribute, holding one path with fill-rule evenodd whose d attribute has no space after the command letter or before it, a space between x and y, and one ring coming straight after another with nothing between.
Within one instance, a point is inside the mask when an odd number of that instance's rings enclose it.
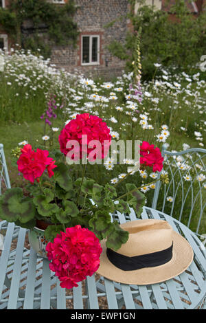
<instances>
[{"instance_id":1,"label":"leftmost red geranium flower cluster, above the green leaves","mask_svg":"<svg viewBox=\"0 0 206 323\"><path fill-rule=\"evenodd\" d=\"M43 172L47 169L49 177L54 175L53 169L57 166L54 165L55 160L48 157L49 151L42 151L36 149L32 151L32 146L26 144L21 148L21 155L17 161L19 172L23 173L23 177L34 183L35 179L41 177Z\"/></svg>"}]
</instances>

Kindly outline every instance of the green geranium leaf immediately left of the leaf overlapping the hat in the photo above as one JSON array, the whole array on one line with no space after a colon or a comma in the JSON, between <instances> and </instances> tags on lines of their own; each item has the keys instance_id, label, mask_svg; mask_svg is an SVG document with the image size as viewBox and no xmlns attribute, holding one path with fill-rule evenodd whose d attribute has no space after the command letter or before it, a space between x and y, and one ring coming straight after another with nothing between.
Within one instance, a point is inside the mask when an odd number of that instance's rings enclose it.
<instances>
[{"instance_id":1,"label":"green geranium leaf immediately left of the leaf overlapping the hat","mask_svg":"<svg viewBox=\"0 0 206 323\"><path fill-rule=\"evenodd\" d=\"M106 211L95 212L95 216L89 220L89 225L100 240L106 238L113 230L111 216Z\"/></svg>"}]
</instances>

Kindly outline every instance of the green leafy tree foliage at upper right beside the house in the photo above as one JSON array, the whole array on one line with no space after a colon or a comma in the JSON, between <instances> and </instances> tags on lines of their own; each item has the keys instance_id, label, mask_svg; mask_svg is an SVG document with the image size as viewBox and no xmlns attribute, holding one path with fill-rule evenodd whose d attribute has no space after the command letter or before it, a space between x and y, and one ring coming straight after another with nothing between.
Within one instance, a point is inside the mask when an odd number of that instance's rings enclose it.
<instances>
[{"instance_id":1,"label":"green leafy tree foliage at upper right beside the house","mask_svg":"<svg viewBox=\"0 0 206 323\"><path fill-rule=\"evenodd\" d=\"M134 1L130 1L134 5ZM144 2L144 1L142 1ZM194 16L185 1L176 1L170 12L154 10L152 6L140 5L137 14L131 10L129 18L133 32L128 32L124 45L113 41L111 52L127 60L132 67L134 60L135 32L141 27L141 63L144 78L152 78L154 63L166 67L177 67L188 71L200 62L206 47L206 12Z\"/></svg>"}]
</instances>

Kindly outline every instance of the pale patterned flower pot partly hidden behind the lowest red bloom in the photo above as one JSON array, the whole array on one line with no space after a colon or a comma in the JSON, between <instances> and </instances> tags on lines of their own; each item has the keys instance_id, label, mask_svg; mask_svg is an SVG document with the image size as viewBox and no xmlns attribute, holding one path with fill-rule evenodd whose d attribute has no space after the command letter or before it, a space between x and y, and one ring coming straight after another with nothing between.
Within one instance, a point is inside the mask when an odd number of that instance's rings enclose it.
<instances>
[{"instance_id":1,"label":"pale patterned flower pot partly hidden behind the lowest red bloom","mask_svg":"<svg viewBox=\"0 0 206 323\"><path fill-rule=\"evenodd\" d=\"M43 258L47 258L46 245L49 243L45 239L45 230L33 227L29 232L30 246Z\"/></svg>"}]
</instances>

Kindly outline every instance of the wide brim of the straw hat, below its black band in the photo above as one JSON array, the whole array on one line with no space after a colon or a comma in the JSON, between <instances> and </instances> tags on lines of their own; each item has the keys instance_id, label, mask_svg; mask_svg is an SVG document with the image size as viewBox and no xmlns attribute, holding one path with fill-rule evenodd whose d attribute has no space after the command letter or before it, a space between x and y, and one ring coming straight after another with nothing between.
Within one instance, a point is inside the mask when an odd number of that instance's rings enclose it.
<instances>
[{"instance_id":1,"label":"wide brim of the straw hat, below its black band","mask_svg":"<svg viewBox=\"0 0 206 323\"><path fill-rule=\"evenodd\" d=\"M193 250L183 236L173 232L172 259L164 265L124 271L113 265L106 256L106 240L101 241L102 254L98 274L129 285L150 285L169 280L183 273L193 260Z\"/></svg>"}]
</instances>

